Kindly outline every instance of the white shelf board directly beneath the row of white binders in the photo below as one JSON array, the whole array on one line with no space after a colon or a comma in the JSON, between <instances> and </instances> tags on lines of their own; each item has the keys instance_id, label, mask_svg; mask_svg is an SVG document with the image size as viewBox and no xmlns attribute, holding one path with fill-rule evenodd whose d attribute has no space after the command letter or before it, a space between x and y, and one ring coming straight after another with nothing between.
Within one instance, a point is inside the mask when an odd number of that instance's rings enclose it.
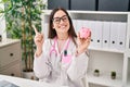
<instances>
[{"instance_id":1,"label":"white shelf board directly beneath the row of white binders","mask_svg":"<svg viewBox=\"0 0 130 87\"><path fill-rule=\"evenodd\" d=\"M122 50L117 49L106 49L106 48L89 48L89 50L95 50L95 51L106 51L106 52L115 52L115 53L123 53Z\"/></svg>"}]
</instances>

